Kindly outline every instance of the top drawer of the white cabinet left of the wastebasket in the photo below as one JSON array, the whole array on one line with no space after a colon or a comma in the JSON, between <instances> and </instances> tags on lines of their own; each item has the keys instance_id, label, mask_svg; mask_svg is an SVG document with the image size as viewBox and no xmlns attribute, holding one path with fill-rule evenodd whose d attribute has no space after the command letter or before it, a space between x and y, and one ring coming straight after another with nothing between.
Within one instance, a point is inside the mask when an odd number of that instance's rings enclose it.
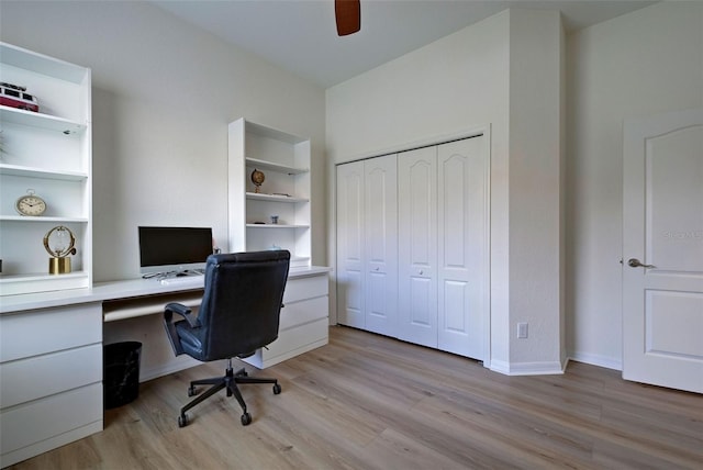
<instances>
[{"instance_id":1,"label":"top drawer of the white cabinet left of the wastebasket","mask_svg":"<svg viewBox=\"0 0 703 470\"><path fill-rule=\"evenodd\" d=\"M0 316L0 362L101 342L100 303Z\"/></svg>"}]
</instances>

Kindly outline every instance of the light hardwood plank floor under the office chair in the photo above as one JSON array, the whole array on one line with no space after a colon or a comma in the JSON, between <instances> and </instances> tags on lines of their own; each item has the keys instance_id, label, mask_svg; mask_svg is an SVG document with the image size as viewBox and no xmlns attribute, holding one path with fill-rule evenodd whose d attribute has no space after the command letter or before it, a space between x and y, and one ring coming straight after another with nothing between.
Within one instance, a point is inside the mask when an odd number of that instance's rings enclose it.
<instances>
[{"instance_id":1,"label":"light hardwood plank floor under the office chair","mask_svg":"<svg viewBox=\"0 0 703 470\"><path fill-rule=\"evenodd\" d=\"M221 367L222 366L222 367ZM104 432L14 469L703 469L703 396L571 362L506 377L382 336L332 327L330 345L244 385L254 422L223 392L179 428L203 365L141 384Z\"/></svg>"}]
</instances>

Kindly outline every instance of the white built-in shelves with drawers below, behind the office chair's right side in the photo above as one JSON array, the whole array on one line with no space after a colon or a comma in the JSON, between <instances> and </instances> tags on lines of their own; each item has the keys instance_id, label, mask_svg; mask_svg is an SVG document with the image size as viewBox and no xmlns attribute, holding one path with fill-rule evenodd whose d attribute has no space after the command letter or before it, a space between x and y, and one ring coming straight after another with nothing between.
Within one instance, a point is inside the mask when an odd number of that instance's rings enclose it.
<instances>
[{"instance_id":1,"label":"white built-in shelves with drawers below, behind the office chair's right side","mask_svg":"<svg viewBox=\"0 0 703 470\"><path fill-rule=\"evenodd\" d=\"M328 340L330 268L310 258L310 139L239 119L230 124L228 164L230 250L291 253L278 339L244 359L266 368ZM266 178L259 192L255 169Z\"/></svg>"}]
</instances>

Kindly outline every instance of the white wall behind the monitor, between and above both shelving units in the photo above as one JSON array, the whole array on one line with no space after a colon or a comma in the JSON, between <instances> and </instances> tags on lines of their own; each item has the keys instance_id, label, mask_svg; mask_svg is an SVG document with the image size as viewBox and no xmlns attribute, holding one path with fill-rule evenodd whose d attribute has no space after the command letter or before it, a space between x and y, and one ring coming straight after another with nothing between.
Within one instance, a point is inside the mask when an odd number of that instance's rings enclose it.
<instances>
[{"instance_id":1,"label":"white wall behind the monitor, between and above both shelving units","mask_svg":"<svg viewBox=\"0 0 703 470\"><path fill-rule=\"evenodd\" d=\"M324 90L132 1L3 1L0 38L90 67L94 280L138 276L137 225L212 226L226 248L227 123L312 138L324 265ZM41 97L40 97L41 98Z\"/></svg>"}]
</instances>

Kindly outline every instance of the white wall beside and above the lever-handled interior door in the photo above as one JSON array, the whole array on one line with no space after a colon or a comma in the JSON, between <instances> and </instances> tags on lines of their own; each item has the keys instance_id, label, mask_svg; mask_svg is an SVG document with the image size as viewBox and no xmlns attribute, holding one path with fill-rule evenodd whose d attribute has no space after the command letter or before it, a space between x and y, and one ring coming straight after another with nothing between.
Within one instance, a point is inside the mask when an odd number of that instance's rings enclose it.
<instances>
[{"instance_id":1,"label":"white wall beside and above the lever-handled interior door","mask_svg":"<svg viewBox=\"0 0 703 470\"><path fill-rule=\"evenodd\" d=\"M623 120L703 105L703 3L658 3L567 48L567 343L621 369Z\"/></svg>"}]
</instances>

